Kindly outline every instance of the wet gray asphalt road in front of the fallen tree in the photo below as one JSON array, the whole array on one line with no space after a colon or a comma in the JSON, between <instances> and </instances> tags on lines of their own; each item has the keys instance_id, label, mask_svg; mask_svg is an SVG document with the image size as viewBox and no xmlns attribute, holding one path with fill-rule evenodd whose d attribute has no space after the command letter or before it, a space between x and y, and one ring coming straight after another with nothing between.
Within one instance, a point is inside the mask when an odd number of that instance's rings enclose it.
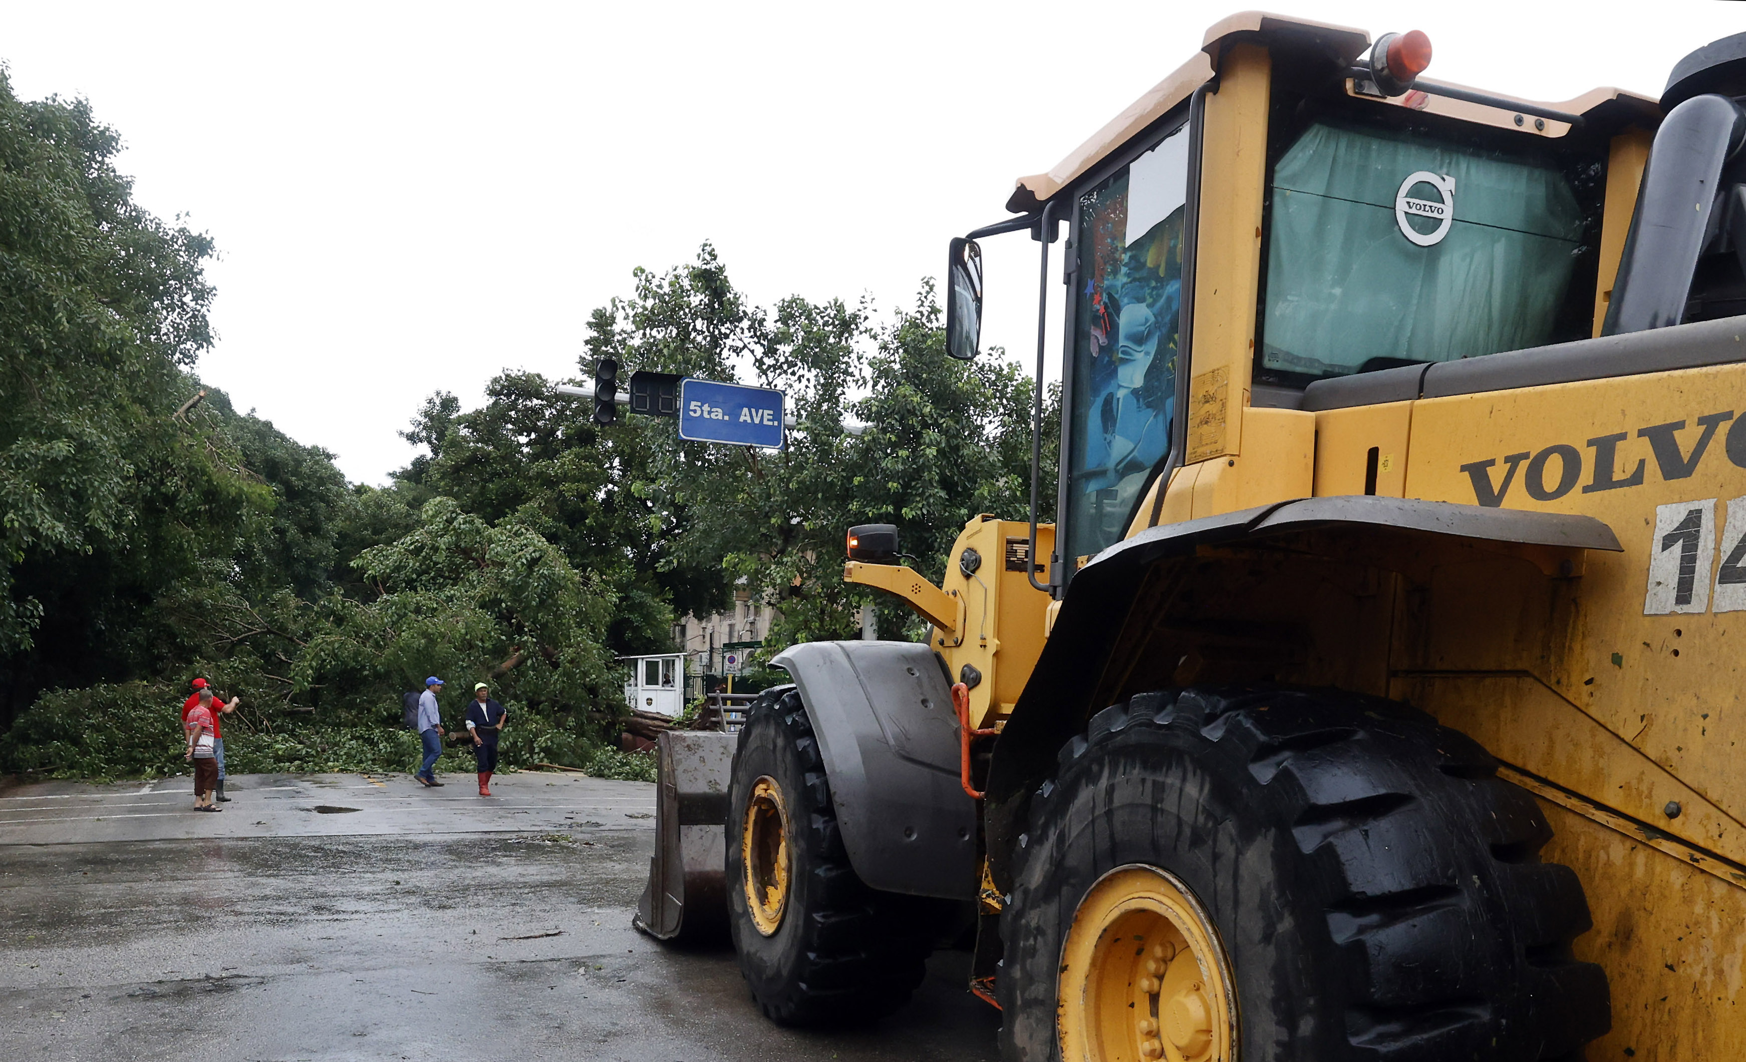
<instances>
[{"instance_id":1,"label":"wet gray asphalt road in front of the fallen tree","mask_svg":"<svg viewBox=\"0 0 1746 1062\"><path fill-rule=\"evenodd\" d=\"M796 1032L730 950L636 933L653 786L447 781L0 790L0 1057L995 1059L960 954L871 1029Z\"/></svg>"}]
</instances>

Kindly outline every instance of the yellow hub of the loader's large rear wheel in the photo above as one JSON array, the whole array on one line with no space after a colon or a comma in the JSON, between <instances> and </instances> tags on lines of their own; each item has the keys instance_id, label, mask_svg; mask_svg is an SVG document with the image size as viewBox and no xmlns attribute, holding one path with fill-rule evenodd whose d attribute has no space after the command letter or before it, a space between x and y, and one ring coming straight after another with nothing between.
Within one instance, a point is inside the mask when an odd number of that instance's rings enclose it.
<instances>
[{"instance_id":1,"label":"yellow hub of the loader's large rear wheel","mask_svg":"<svg viewBox=\"0 0 1746 1062\"><path fill-rule=\"evenodd\" d=\"M1117 866L1062 947L1063 1062L1233 1062L1236 989L1206 908L1175 875Z\"/></svg>"}]
</instances>

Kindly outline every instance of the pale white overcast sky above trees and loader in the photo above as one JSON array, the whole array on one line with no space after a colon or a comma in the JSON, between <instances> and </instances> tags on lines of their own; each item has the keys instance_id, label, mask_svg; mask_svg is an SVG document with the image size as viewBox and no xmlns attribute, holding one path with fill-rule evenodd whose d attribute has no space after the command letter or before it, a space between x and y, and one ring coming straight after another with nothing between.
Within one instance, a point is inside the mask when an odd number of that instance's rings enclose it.
<instances>
[{"instance_id":1,"label":"pale white overcast sky above trees and loader","mask_svg":"<svg viewBox=\"0 0 1746 1062\"><path fill-rule=\"evenodd\" d=\"M588 311L705 239L758 302L908 304L1238 9L33 0L0 3L0 59L26 100L89 98L136 199L217 239L203 377L384 482L426 395L578 376ZM1430 77L1554 101L1659 94L1746 30L1678 0L1278 9L1425 30ZM1028 360L1035 245L985 250L983 341Z\"/></svg>"}]
</instances>

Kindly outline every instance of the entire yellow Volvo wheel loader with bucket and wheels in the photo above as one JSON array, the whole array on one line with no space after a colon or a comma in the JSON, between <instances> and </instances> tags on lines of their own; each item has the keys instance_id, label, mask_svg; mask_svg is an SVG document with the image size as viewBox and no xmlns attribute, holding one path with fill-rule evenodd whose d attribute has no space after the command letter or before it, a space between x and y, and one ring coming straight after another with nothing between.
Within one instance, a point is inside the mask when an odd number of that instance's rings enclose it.
<instances>
[{"instance_id":1,"label":"entire yellow Volvo wheel loader with bucket and wheels","mask_svg":"<svg viewBox=\"0 0 1746 1062\"><path fill-rule=\"evenodd\" d=\"M1430 54L1233 16L952 241L952 356L980 239L1039 384L1067 285L1058 522L852 529L927 641L688 739L644 926L843 1022L974 912L1013 1062L1746 1057L1746 35L1659 101Z\"/></svg>"}]
</instances>

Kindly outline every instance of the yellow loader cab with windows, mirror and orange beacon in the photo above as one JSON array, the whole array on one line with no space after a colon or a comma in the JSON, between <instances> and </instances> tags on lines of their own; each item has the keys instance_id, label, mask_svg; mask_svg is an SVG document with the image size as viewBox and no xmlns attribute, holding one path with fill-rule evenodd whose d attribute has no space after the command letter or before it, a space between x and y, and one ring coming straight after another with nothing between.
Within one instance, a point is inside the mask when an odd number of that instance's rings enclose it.
<instances>
[{"instance_id":1,"label":"yellow loader cab with windows, mirror and orange beacon","mask_svg":"<svg viewBox=\"0 0 1746 1062\"><path fill-rule=\"evenodd\" d=\"M1311 494L1315 426L1275 412L1311 383L1599 334L1653 103L1426 93L1371 44L1233 16L1018 182L1032 236L1065 234L1056 596L1147 528ZM1245 431L1301 459L1243 466Z\"/></svg>"}]
</instances>

